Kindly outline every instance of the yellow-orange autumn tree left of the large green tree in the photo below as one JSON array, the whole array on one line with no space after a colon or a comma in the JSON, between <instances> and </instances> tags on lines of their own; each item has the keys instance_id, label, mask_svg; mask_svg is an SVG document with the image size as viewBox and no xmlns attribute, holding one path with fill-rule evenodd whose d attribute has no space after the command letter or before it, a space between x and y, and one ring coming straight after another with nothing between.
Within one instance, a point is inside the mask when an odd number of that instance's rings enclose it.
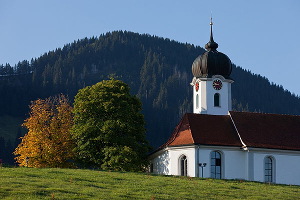
<instances>
[{"instance_id":1,"label":"yellow-orange autumn tree left of the large green tree","mask_svg":"<svg viewBox=\"0 0 300 200\"><path fill-rule=\"evenodd\" d=\"M31 101L29 117L22 126L28 129L13 152L20 166L70 167L74 141L70 128L73 125L72 107L63 94Z\"/></svg>"}]
</instances>

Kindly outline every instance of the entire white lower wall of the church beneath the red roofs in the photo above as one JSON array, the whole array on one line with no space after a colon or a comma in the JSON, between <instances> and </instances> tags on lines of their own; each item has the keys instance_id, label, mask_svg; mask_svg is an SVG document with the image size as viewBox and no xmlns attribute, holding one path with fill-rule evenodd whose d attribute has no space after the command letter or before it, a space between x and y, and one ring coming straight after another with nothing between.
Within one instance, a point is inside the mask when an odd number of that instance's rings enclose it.
<instances>
[{"instance_id":1,"label":"entire white lower wall of the church beneath the red roofs","mask_svg":"<svg viewBox=\"0 0 300 200\"><path fill-rule=\"evenodd\" d=\"M230 146L199 146L197 160L197 145L166 147L150 156L153 173L180 175L181 155L187 157L188 176L201 177L198 163L206 163L203 167L203 177L210 177L210 153L221 154L221 174L225 179L245 179L264 181L264 158L270 156L273 160L273 182L300 185L300 152L278 149L248 148Z\"/></svg>"}]
</instances>

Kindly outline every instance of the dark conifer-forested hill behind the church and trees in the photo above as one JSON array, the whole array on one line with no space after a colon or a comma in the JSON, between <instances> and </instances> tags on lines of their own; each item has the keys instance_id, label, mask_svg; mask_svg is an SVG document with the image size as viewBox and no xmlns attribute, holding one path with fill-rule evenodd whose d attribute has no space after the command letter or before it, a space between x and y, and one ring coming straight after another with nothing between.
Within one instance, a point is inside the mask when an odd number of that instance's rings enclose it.
<instances>
[{"instance_id":1,"label":"dark conifer-forested hill behind the church and trees","mask_svg":"<svg viewBox=\"0 0 300 200\"><path fill-rule=\"evenodd\" d=\"M0 115L25 118L31 100L61 92L73 100L78 89L114 77L141 99L147 138L157 147L182 114L192 112L191 64L202 52L189 43L128 31L85 37L30 63L0 65ZM300 114L299 97L282 86L235 65L231 77L233 109Z\"/></svg>"}]
</instances>

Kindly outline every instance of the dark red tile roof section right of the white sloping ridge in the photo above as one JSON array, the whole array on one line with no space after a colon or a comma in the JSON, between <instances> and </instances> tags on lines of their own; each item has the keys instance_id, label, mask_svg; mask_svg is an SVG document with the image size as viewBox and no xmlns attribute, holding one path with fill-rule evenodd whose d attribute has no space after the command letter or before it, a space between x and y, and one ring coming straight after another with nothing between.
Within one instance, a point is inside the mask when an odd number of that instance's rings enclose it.
<instances>
[{"instance_id":1,"label":"dark red tile roof section right of the white sloping ridge","mask_svg":"<svg viewBox=\"0 0 300 200\"><path fill-rule=\"evenodd\" d=\"M248 147L300 150L300 116L229 111Z\"/></svg>"}]
</instances>

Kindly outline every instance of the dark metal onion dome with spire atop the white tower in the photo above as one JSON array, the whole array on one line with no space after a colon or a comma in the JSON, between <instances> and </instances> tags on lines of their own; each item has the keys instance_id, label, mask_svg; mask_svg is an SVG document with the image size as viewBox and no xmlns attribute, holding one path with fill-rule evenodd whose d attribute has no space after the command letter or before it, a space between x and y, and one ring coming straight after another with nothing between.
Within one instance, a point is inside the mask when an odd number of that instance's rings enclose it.
<instances>
[{"instance_id":1,"label":"dark metal onion dome with spire atop the white tower","mask_svg":"<svg viewBox=\"0 0 300 200\"><path fill-rule=\"evenodd\" d=\"M212 22L210 22L210 39L205 44L206 51L199 55L192 63L192 74L198 77L212 77L219 74L226 79L230 78L232 70L231 60L227 55L216 50L218 44L213 41Z\"/></svg>"}]
</instances>

